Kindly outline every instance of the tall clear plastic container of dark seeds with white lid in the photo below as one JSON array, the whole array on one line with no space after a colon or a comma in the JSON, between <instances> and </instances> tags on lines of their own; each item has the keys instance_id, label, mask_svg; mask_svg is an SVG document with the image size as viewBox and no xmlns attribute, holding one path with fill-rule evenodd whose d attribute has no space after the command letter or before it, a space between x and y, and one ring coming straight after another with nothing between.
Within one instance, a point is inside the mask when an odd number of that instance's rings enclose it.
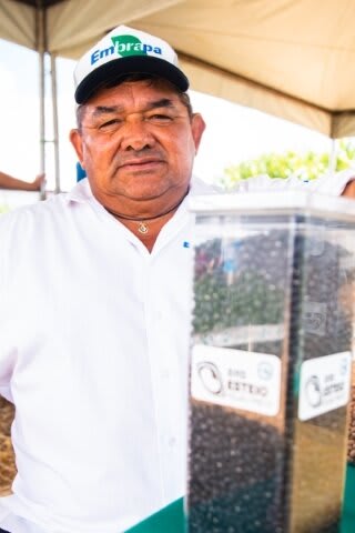
<instances>
[{"instance_id":1,"label":"tall clear plastic container of dark seeds with white lid","mask_svg":"<svg viewBox=\"0 0 355 533\"><path fill-rule=\"evenodd\" d=\"M338 533L355 203L196 198L189 533Z\"/></svg>"}]
</instances>

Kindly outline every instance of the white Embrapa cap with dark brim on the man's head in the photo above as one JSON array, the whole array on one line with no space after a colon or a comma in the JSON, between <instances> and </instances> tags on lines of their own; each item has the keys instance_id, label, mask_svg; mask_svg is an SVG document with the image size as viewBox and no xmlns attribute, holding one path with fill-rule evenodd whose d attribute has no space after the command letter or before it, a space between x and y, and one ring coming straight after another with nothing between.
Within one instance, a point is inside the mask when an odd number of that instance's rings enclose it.
<instances>
[{"instance_id":1,"label":"white Embrapa cap with dark brim on the man's head","mask_svg":"<svg viewBox=\"0 0 355 533\"><path fill-rule=\"evenodd\" d=\"M178 56L168 42L119 26L78 61L75 101L84 103L103 83L134 73L164 78L184 92L189 80L178 64Z\"/></svg>"}]
</instances>

